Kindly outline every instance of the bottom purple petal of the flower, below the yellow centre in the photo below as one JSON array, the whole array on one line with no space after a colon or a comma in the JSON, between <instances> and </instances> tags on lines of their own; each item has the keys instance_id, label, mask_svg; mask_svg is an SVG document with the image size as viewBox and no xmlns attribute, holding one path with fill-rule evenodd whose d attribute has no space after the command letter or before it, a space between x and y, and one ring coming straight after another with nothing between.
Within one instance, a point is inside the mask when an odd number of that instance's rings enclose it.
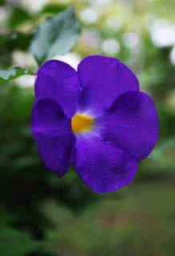
<instances>
[{"instance_id":1,"label":"bottom purple petal of the flower, below the yellow centre","mask_svg":"<svg viewBox=\"0 0 175 256\"><path fill-rule=\"evenodd\" d=\"M137 173L137 161L130 154L95 135L78 136L74 167L83 182L97 193L114 192L128 185Z\"/></svg>"}]
</instances>

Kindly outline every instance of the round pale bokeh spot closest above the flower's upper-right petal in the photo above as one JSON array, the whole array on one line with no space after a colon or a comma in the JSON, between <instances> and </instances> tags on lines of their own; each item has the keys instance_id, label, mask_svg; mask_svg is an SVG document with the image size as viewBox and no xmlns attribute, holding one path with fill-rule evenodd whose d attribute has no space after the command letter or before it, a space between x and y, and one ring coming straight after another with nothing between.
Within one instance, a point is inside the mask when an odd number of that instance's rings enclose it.
<instances>
[{"instance_id":1,"label":"round pale bokeh spot closest above the flower's upper-right petal","mask_svg":"<svg viewBox=\"0 0 175 256\"><path fill-rule=\"evenodd\" d=\"M102 43L102 50L107 55L117 54L120 49L119 43L113 38L107 39Z\"/></svg>"}]
</instances>

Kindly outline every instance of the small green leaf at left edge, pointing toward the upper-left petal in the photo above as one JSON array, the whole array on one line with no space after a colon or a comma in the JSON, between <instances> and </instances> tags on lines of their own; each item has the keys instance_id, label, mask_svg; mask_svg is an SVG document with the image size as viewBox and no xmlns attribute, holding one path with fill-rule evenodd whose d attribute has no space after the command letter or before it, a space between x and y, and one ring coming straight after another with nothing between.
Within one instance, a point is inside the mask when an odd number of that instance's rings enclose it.
<instances>
[{"instance_id":1,"label":"small green leaf at left edge, pointing toward the upper-left petal","mask_svg":"<svg viewBox=\"0 0 175 256\"><path fill-rule=\"evenodd\" d=\"M20 67L12 67L10 70L0 70L0 82L10 81L24 74L32 74L31 70L23 70Z\"/></svg>"}]
</instances>

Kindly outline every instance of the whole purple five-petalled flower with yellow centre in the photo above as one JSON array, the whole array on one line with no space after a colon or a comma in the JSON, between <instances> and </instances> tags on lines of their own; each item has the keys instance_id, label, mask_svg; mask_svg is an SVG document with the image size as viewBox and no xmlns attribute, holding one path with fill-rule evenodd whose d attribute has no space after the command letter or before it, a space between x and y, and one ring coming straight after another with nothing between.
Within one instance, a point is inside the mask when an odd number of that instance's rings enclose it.
<instances>
[{"instance_id":1,"label":"whole purple five-petalled flower with yellow centre","mask_svg":"<svg viewBox=\"0 0 175 256\"><path fill-rule=\"evenodd\" d=\"M35 95L32 132L46 167L62 177L73 164L97 193L129 184L157 142L153 100L115 58L89 56L78 72L65 62L46 62Z\"/></svg>"}]
</instances>

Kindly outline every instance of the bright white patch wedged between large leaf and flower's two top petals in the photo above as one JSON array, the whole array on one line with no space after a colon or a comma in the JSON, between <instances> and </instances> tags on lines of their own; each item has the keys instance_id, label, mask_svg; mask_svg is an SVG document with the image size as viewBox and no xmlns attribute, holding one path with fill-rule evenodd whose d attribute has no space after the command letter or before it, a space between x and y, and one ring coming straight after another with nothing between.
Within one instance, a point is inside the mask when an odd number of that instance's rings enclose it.
<instances>
[{"instance_id":1,"label":"bright white patch wedged between large leaf and flower's two top petals","mask_svg":"<svg viewBox=\"0 0 175 256\"><path fill-rule=\"evenodd\" d=\"M54 59L58 59L59 61L66 62L70 64L70 66L74 67L75 70L78 69L78 64L81 61L81 58L78 54L69 53L65 55L57 55Z\"/></svg>"}]
</instances>

